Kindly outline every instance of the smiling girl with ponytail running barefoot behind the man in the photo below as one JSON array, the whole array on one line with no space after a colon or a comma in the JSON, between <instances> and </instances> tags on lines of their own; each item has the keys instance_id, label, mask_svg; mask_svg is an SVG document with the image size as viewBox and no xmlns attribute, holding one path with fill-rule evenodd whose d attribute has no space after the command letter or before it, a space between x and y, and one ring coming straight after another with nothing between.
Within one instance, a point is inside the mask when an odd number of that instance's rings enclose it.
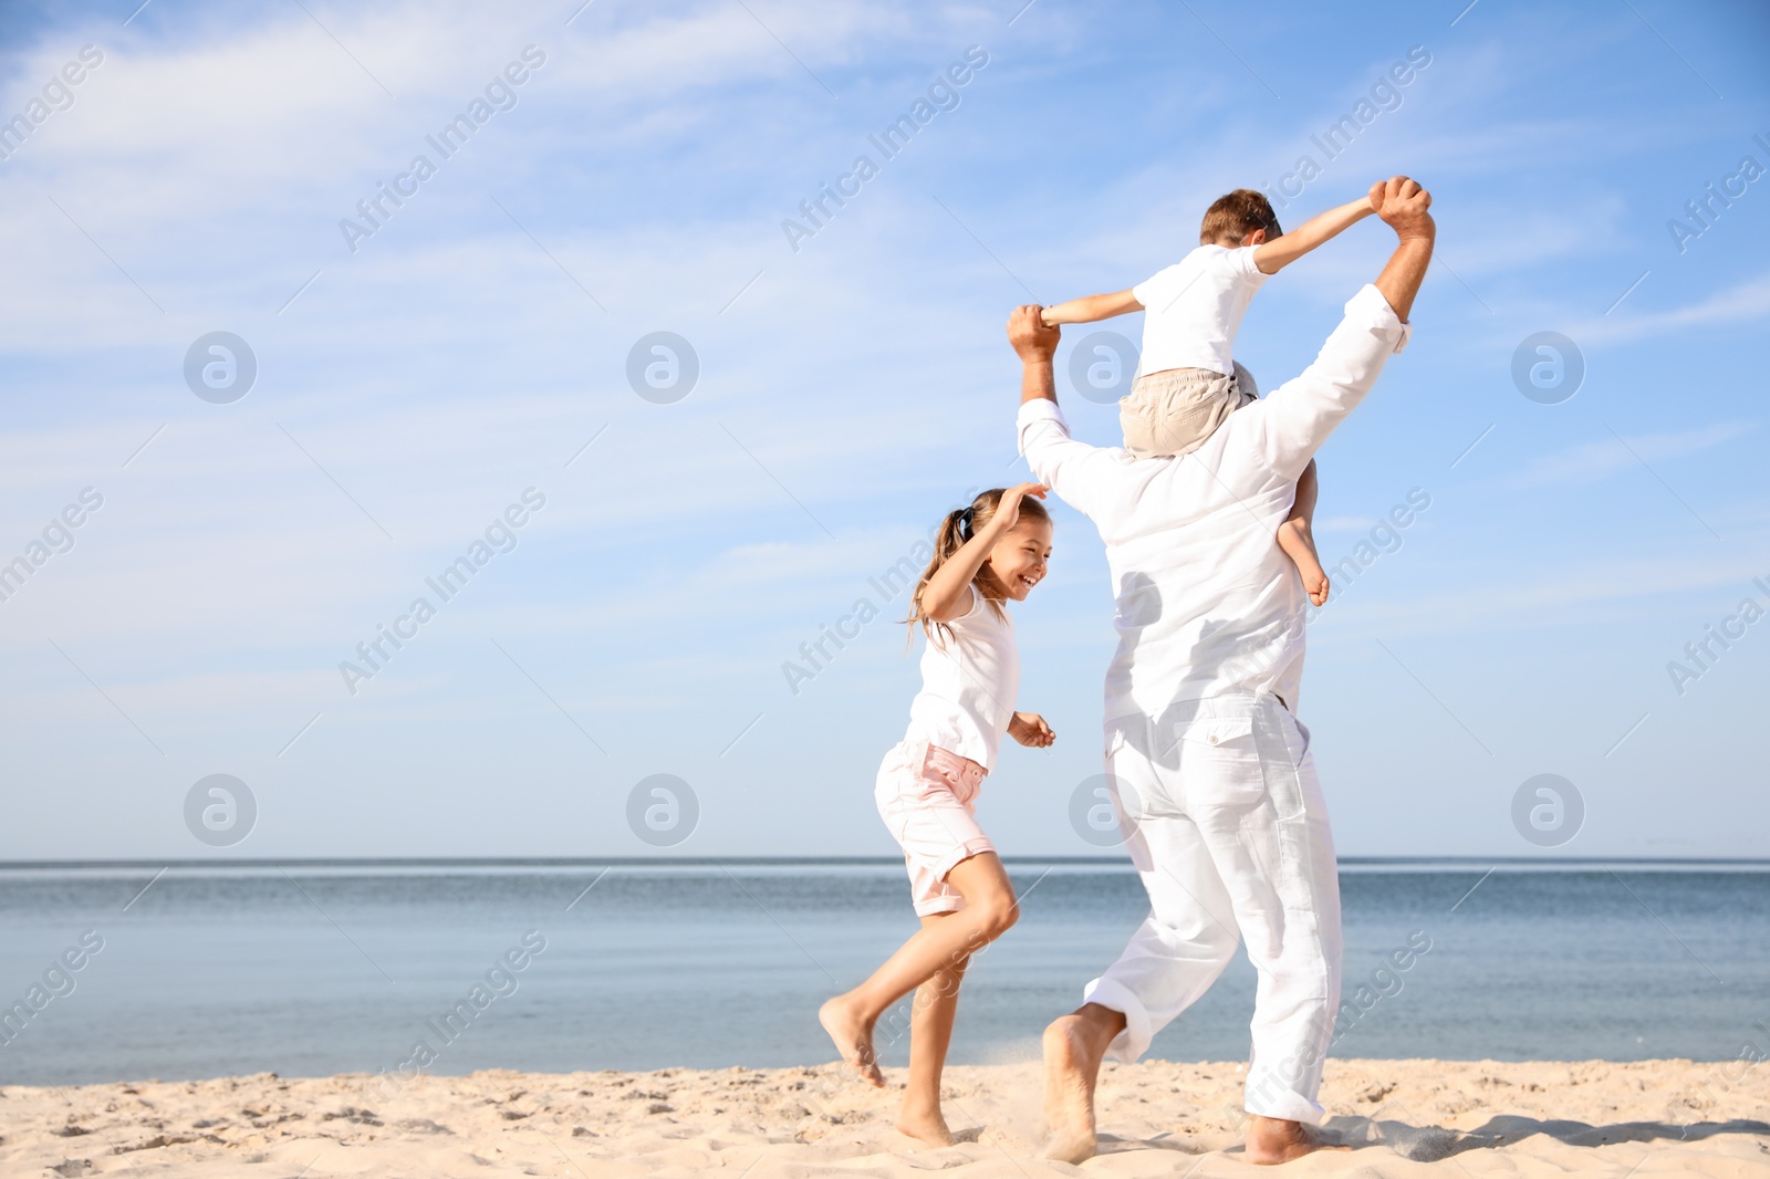
<instances>
[{"instance_id":1,"label":"smiling girl with ponytail running barefoot behind the man","mask_svg":"<svg viewBox=\"0 0 1770 1179\"><path fill-rule=\"evenodd\" d=\"M1044 492L1043 483L986 490L940 528L906 620L927 636L922 690L910 703L910 731L885 754L874 790L880 816L903 846L922 928L873 977L818 1011L843 1060L883 1089L873 1025L920 988L897 1129L929 1145L952 1145L940 1114L940 1073L965 967L1014 924L1020 905L995 844L972 816L977 790L1002 733L1039 749L1057 740L1043 717L1014 712L1020 653L1004 609L1044 577L1051 556Z\"/></svg>"}]
</instances>

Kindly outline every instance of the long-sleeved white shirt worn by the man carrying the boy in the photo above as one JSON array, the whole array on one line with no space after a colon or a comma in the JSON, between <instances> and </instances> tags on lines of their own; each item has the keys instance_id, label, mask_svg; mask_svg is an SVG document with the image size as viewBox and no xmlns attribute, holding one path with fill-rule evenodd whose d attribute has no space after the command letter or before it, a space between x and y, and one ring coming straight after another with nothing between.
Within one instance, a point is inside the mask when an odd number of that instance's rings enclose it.
<instances>
[{"instance_id":1,"label":"long-sleeved white shirt worn by the man carrying the boy","mask_svg":"<svg viewBox=\"0 0 1770 1179\"><path fill-rule=\"evenodd\" d=\"M1021 405L1020 451L1032 473L1106 543L1119 632L1108 724L1235 690L1273 692L1296 710L1308 597L1276 531L1297 476L1409 335L1365 287L1303 375L1230 414L1181 458L1089 446L1069 437L1055 402Z\"/></svg>"}]
</instances>

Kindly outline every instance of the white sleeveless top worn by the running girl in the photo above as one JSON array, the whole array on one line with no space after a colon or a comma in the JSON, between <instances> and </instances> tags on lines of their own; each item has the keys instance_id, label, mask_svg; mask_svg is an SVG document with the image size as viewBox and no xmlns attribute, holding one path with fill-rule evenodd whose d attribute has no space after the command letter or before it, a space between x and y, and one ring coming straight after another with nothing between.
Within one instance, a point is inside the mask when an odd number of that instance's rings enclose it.
<instances>
[{"instance_id":1,"label":"white sleeveless top worn by the running girl","mask_svg":"<svg viewBox=\"0 0 1770 1179\"><path fill-rule=\"evenodd\" d=\"M922 690L910 701L906 740L940 745L995 767L1002 735L1014 719L1020 696L1020 648L1014 620L997 611L970 586L972 609L938 628L922 651Z\"/></svg>"}]
</instances>

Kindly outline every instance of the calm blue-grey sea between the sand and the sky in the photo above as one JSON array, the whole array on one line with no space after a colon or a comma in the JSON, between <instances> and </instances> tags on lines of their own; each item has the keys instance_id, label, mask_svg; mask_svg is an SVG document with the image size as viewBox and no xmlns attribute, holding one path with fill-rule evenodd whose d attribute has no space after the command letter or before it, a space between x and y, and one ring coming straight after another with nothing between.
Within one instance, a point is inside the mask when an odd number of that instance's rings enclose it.
<instances>
[{"instance_id":1,"label":"calm blue-grey sea between the sand and the sky","mask_svg":"<svg viewBox=\"0 0 1770 1179\"><path fill-rule=\"evenodd\" d=\"M1122 864L1011 871L1023 917L972 967L956 1062L1035 1055L1145 913ZM1342 889L1365 991L1335 1055L1770 1048L1761 864L1349 864ZM820 1064L818 1002L913 929L894 864L0 869L0 1002L41 1006L11 1018L0 1082L377 1073L418 1043L435 1073ZM1246 1057L1251 1006L1239 958L1154 1055Z\"/></svg>"}]
</instances>

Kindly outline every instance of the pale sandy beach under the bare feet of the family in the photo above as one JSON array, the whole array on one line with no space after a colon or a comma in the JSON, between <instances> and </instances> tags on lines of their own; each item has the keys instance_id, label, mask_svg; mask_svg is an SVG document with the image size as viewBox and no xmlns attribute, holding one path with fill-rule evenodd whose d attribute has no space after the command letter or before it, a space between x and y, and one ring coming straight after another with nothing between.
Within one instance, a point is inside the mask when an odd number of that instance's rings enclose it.
<instances>
[{"instance_id":1,"label":"pale sandy beach under the bare feet of the family","mask_svg":"<svg viewBox=\"0 0 1770 1179\"><path fill-rule=\"evenodd\" d=\"M892 1129L892 1089L837 1066L234 1076L0 1089L4 1175L1241 1175L1237 1064L1108 1064L1101 1154L1037 1161L1035 1062L952 1067L961 1138ZM1331 1060L1299 1175L1770 1175L1770 1066ZM1264 1172L1262 1172L1264 1174Z\"/></svg>"}]
</instances>

